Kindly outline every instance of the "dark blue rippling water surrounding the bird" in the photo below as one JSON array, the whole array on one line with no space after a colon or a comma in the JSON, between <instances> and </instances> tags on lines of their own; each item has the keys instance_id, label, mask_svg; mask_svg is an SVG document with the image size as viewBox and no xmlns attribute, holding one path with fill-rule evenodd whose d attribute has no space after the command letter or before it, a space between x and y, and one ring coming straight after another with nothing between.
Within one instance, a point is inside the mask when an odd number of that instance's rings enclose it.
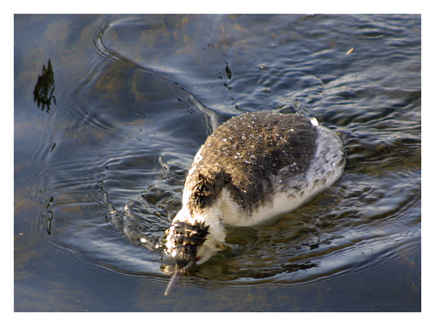
<instances>
[{"instance_id":1,"label":"dark blue rippling water surrounding the bird","mask_svg":"<svg viewBox=\"0 0 435 326\"><path fill-rule=\"evenodd\" d=\"M16 15L14 106L16 311L420 311L420 16ZM343 176L164 297L193 156L259 110L337 131Z\"/></svg>"}]
</instances>

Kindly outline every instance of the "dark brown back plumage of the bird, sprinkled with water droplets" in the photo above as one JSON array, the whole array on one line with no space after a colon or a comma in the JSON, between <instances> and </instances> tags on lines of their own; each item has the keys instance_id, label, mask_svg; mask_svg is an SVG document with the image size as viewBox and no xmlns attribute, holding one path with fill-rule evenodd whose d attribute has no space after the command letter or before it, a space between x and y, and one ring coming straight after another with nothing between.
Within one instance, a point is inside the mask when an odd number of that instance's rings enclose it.
<instances>
[{"instance_id":1,"label":"dark brown back plumage of the bird, sprinkled with water droplets","mask_svg":"<svg viewBox=\"0 0 435 326\"><path fill-rule=\"evenodd\" d=\"M192 166L189 210L202 212L226 187L250 213L270 200L275 177L290 180L308 169L316 138L317 127L299 114L253 112L225 122L207 138L200 150L206 155Z\"/></svg>"}]
</instances>

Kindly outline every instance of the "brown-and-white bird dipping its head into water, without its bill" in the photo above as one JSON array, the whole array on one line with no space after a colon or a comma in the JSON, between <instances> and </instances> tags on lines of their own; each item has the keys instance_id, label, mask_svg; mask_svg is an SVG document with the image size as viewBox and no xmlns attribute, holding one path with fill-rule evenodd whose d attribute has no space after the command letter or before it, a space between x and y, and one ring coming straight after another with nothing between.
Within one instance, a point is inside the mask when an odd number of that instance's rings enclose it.
<instances>
[{"instance_id":1,"label":"brown-and-white bird dipping its head into water, without its bill","mask_svg":"<svg viewBox=\"0 0 435 326\"><path fill-rule=\"evenodd\" d=\"M299 114L244 113L218 127L195 155L182 208L163 239L176 270L225 246L226 226L253 226L290 212L343 173L332 131Z\"/></svg>"}]
</instances>

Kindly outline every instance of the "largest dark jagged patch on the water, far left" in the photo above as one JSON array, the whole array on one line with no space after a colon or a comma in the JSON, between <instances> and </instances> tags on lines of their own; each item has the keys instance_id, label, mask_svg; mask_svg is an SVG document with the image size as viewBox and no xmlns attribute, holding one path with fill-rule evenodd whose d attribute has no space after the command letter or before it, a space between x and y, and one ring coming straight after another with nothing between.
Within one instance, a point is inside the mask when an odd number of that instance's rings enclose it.
<instances>
[{"instance_id":1,"label":"largest dark jagged patch on the water, far left","mask_svg":"<svg viewBox=\"0 0 435 326\"><path fill-rule=\"evenodd\" d=\"M36 83L33 91L33 101L36 102L38 107L41 107L44 111L47 107L47 112L50 112L50 107L52 105L52 100L54 105L56 103L56 97L54 94L54 72L52 66L52 59L48 59L47 67L43 65L42 74L38 77L38 82Z\"/></svg>"}]
</instances>

